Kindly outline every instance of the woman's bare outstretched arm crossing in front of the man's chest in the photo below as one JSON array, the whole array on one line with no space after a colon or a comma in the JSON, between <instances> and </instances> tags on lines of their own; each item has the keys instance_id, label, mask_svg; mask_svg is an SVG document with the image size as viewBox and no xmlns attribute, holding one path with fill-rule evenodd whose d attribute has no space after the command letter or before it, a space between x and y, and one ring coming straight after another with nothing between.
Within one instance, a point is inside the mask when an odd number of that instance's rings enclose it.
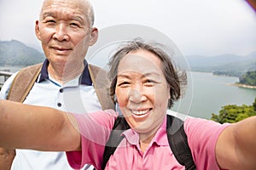
<instances>
[{"instance_id":1,"label":"woman's bare outstretched arm crossing in front of the man's chest","mask_svg":"<svg viewBox=\"0 0 256 170\"><path fill-rule=\"evenodd\" d=\"M0 146L32 150L80 150L77 122L67 112L0 100Z\"/></svg>"}]
</instances>

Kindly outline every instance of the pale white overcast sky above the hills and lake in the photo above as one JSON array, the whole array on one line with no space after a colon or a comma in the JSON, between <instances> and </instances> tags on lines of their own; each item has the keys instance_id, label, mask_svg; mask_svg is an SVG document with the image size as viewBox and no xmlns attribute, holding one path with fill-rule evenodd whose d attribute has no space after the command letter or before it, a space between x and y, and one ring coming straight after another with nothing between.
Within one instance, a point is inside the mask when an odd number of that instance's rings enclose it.
<instances>
[{"instance_id":1,"label":"pale white overcast sky above the hills and lake","mask_svg":"<svg viewBox=\"0 0 256 170\"><path fill-rule=\"evenodd\" d=\"M0 40L40 47L34 34L43 0L0 0ZM244 0L91 0L95 26L150 26L185 55L256 51L256 13Z\"/></svg>"}]
</instances>

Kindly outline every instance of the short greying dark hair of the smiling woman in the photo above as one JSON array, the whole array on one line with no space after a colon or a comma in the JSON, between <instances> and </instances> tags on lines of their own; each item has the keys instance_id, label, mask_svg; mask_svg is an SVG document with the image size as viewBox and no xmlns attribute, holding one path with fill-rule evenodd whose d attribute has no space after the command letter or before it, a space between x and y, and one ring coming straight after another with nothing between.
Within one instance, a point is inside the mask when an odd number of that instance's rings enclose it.
<instances>
[{"instance_id":1,"label":"short greying dark hair of the smiling woman","mask_svg":"<svg viewBox=\"0 0 256 170\"><path fill-rule=\"evenodd\" d=\"M124 45L120 46L112 58L109 60L108 65L110 66L110 71L108 76L111 82L110 86L110 96L114 101L115 87L117 83L117 71L119 62L125 57L126 54L130 52L136 52L139 49L146 50L152 54L155 54L161 62L161 70L166 77L166 82L170 86L171 98L168 101L168 108L170 109L174 103L181 97L181 91L187 84L187 76L185 71L177 71L171 56L166 54L164 50L159 48L159 43L143 42L141 38L136 38L132 41L125 42Z\"/></svg>"}]
</instances>

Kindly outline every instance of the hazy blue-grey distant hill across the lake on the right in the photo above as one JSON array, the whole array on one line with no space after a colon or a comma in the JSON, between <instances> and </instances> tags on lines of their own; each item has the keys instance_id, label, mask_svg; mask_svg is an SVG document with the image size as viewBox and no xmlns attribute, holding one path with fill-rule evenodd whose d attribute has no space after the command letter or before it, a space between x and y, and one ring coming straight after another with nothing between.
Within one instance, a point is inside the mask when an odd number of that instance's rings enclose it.
<instances>
[{"instance_id":1,"label":"hazy blue-grey distant hill across the lake on the right","mask_svg":"<svg viewBox=\"0 0 256 170\"><path fill-rule=\"evenodd\" d=\"M217 75L241 77L256 70L256 51L247 56L223 54L213 57L187 56L191 71L206 71Z\"/></svg>"}]
</instances>

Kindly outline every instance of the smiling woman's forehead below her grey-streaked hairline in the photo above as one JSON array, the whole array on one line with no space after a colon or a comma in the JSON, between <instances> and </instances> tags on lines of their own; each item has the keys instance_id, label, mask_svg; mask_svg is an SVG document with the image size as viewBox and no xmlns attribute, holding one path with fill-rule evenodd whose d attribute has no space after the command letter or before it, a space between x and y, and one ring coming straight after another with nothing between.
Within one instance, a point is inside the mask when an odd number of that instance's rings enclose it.
<instances>
[{"instance_id":1,"label":"smiling woman's forehead below her grey-streaked hairline","mask_svg":"<svg viewBox=\"0 0 256 170\"><path fill-rule=\"evenodd\" d=\"M161 61L155 54L150 52L129 53L119 62L118 74L124 71L137 72L143 75L154 72L161 75Z\"/></svg>"}]
</instances>

